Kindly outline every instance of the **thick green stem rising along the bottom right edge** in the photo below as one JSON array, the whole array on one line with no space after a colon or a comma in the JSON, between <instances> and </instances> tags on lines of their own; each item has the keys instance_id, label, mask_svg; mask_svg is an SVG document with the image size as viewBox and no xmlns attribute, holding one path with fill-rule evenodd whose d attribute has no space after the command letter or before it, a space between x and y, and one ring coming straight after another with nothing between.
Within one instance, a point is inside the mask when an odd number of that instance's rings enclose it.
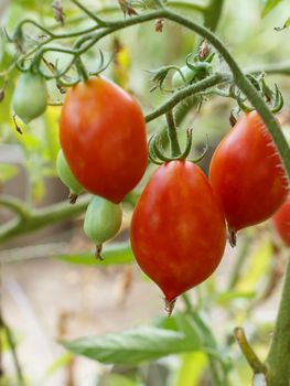
<instances>
[{"instance_id":1,"label":"thick green stem rising along the bottom right edge","mask_svg":"<svg viewBox=\"0 0 290 386\"><path fill-rule=\"evenodd\" d=\"M267 358L267 386L290 384L290 254L288 254L282 298L270 351Z\"/></svg>"}]
</instances>

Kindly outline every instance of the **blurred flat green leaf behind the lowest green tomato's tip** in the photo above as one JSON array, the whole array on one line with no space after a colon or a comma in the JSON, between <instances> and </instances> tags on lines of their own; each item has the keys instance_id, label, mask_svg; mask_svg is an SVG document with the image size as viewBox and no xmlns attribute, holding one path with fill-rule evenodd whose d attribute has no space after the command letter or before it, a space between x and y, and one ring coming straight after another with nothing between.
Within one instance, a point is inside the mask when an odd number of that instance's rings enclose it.
<instances>
[{"instance_id":1,"label":"blurred flat green leaf behind the lowest green tomato's tip","mask_svg":"<svg viewBox=\"0 0 290 386\"><path fill-rule=\"evenodd\" d=\"M133 260L133 254L128 243L111 244L104 248L101 256L104 260L95 258L94 253L84 253L75 255L56 256L57 259L85 266L108 266L130 264Z\"/></svg>"}]
</instances>

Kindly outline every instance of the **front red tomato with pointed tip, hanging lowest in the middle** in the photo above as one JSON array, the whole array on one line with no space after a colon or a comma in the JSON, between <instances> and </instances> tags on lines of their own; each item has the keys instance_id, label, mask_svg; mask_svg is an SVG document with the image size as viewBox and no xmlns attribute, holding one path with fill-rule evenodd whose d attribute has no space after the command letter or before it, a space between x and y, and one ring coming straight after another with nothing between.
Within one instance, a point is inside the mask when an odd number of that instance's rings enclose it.
<instances>
[{"instance_id":1,"label":"front red tomato with pointed tip, hanging lowest in the middle","mask_svg":"<svg viewBox=\"0 0 290 386\"><path fill-rule=\"evenodd\" d=\"M202 170L189 161L161 165L135 208L130 238L137 262L168 302L211 276L226 230Z\"/></svg>"}]
</instances>

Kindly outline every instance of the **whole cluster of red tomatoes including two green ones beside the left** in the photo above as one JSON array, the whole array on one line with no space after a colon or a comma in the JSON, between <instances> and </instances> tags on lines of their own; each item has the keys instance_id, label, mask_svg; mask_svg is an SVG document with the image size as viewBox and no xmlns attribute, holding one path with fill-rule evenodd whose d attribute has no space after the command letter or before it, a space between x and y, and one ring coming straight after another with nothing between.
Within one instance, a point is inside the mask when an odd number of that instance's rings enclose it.
<instances>
[{"instance_id":1,"label":"whole cluster of red tomatoes including two green ones beside the left","mask_svg":"<svg viewBox=\"0 0 290 386\"><path fill-rule=\"evenodd\" d=\"M147 168L141 109L111 82L89 79L66 95L60 140L57 171L71 201L83 190L93 194L84 232L100 257L101 244L121 226L120 202ZM210 181L182 158L175 156L157 169L130 228L137 262L163 291L169 313L180 294L217 268L226 223L233 245L236 232L269 218L289 193L281 159L256 111L243 116L222 140L211 161ZM289 202L286 207L275 221L289 243L289 219L280 225L289 218Z\"/></svg>"}]
</instances>

